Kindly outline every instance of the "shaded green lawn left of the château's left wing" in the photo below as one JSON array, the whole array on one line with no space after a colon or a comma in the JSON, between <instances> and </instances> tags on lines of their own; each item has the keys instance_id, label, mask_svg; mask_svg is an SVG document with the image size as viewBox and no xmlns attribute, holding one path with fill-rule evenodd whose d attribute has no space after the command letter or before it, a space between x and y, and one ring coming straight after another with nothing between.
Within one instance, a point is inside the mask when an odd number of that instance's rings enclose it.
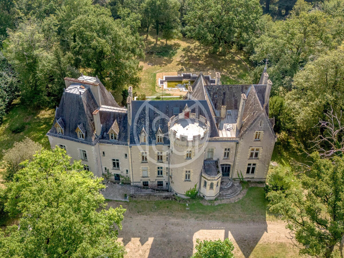
<instances>
[{"instance_id":1,"label":"shaded green lawn left of the ch\u00e2teau's left wing","mask_svg":"<svg viewBox=\"0 0 344 258\"><path fill-rule=\"evenodd\" d=\"M41 143L44 148L50 148L48 137L45 134L51 128L54 115L54 109L31 108L22 105L17 100L0 125L0 159L3 156L2 150L11 148L15 141L21 141L25 137ZM24 131L20 133L11 132L10 128L18 123L25 125Z\"/></svg>"}]
</instances>

